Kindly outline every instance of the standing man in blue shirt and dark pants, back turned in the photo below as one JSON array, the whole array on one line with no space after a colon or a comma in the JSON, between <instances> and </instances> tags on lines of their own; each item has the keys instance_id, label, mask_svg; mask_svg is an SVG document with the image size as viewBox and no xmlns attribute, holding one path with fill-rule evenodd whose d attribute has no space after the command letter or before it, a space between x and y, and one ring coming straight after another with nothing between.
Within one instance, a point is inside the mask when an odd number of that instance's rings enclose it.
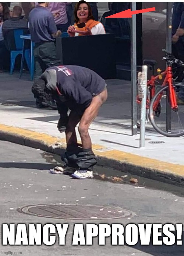
<instances>
[{"instance_id":1,"label":"standing man in blue shirt and dark pants, back turned","mask_svg":"<svg viewBox=\"0 0 184 256\"><path fill-rule=\"evenodd\" d=\"M59 60L56 59L56 46L54 42L56 36L61 35L61 31L57 31L54 17L46 8L48 4L39 3L29 13L31 40L35 42L35 79L38 79L48 67L59 64ZM38 108L47 106L47 104L42 103L39 99L36 99L36 106ZM56 107L54 102L50 102L51 105L52 103Z\"/></svg>"}]
</instances>

